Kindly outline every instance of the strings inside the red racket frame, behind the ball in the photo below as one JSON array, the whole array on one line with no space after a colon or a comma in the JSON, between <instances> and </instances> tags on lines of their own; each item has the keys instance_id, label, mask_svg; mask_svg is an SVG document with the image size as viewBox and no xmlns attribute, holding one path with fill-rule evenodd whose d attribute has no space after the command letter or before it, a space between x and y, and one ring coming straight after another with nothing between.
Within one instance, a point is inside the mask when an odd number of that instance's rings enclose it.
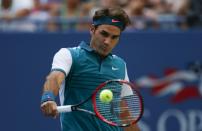
<instances>
[{"instance_id":1,"label":"strings inside the red racket frame, behind the ball","mask_svg":"<svg viewBox=\"0 0 202 131\"><path fill-rule=\"evenodd\" d=\"M124 93L123 88L127 89ZM104 89L110 89L113 99L109 103L103 103L99 99L99 94ZM96 96L97 110L107 121L117 125L131 124L136 121L141 114L141 102L139 95L130 85L120 82L106 84Z\"/></svg>"}]
</instances>

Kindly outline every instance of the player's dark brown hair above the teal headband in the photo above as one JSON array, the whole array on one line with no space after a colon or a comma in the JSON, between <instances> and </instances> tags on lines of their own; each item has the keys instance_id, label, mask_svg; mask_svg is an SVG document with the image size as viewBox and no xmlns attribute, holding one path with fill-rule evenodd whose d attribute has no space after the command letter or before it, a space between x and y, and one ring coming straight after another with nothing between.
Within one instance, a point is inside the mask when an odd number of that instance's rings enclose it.
<instances>
[{"instance_id":1,"label":"player's dark brown hair above the teal headband","mask_svg":"<svg viewBox=\"0 0 202 131\"><path fill-rule=\"evenodd\" d=\"M98 20L105 16L116 18L117 20L120 20L121 22L123 22L124 28L122 29L122 31L126 28L126 26L131 24L130 18L128 17L126 12L119 7L103 8L103 9L97 10L93 16L93 21Z\"/></svg>"}]
</instances>

